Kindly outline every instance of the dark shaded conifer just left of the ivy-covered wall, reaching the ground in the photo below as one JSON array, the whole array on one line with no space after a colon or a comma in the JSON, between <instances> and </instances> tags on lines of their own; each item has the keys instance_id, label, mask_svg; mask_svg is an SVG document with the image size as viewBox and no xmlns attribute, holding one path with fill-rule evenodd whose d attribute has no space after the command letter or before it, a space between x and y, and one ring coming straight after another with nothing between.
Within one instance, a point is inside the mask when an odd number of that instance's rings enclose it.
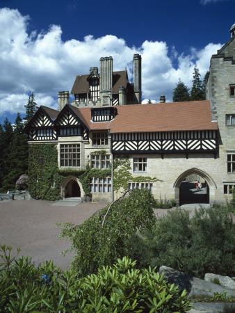
<instances>
[{"instance_id":1,"label":"dark shaded conifer just left of the ivy-covered wall, reaching the ground","mask_svg":"<svg viewBox=\"0 0 235 313\"><path fill-rule=\"evenodd\" d=\"M29 148L26 134L22 134L23 128L22 118L17 113L10 149L5 159L5 165L8 169L3 178L3 189L5 191L15 189L15 182L19 176L26 174L28 171Z\"/></svg>"}]
</instances>

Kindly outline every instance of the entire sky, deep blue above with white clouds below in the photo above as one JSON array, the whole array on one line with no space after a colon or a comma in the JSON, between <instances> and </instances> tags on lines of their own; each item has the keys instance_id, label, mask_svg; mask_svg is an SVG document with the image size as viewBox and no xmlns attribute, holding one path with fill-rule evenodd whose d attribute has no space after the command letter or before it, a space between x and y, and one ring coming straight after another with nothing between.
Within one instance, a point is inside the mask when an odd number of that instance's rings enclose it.
<instances>
[{"instance_id":1,"label":"entire sky, deep blue above with white clouds below","mask_svg":"<svg viewBox=\"0 0 235 313\"><path fill-rule=\"evenodd\" d=\"M57 109L58 92L102 56L124 70L141 54L143 101L170 102L179 78L191 87L195 64L203 79L234 12L234 0L0 0L0 123L23 116L31 92Z\"/></svg>"}]
</instances>

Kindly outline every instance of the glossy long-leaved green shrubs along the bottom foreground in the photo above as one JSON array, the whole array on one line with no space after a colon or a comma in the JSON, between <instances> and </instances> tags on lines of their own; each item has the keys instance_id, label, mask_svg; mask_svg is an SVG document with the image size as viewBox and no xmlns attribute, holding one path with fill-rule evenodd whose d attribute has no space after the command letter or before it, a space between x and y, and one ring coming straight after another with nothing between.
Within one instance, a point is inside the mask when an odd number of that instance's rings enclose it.
<instances>
[{"instance_id":1,"label":"glossy long-leaved green shrubs along the bottom foreground","mask_svg":"<svg viewBox=\"0 0 235 313\"><path fill-rule=\"evenodd\" d=\"M53 262L35 268L29 257L10 257L0 246L1 312L186 312L186 291L168 284L154 269L135 268L124 257L97 274L79 278ZM44 279L43 279L44 277Z\"/></svg>"}]
</instances>

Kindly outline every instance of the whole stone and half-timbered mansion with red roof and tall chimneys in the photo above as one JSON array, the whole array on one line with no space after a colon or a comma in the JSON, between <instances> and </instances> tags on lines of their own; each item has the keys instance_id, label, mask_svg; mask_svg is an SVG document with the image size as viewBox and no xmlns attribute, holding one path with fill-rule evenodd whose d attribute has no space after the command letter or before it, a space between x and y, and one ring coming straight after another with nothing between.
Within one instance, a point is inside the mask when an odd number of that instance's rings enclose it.
<instances>
[{"instance_id":1,"label":"whole stone and half-timbered mansion with red roof and tall chimneys","mask_svg":"<svg viewBox=\"0 0 235 313\"><path fill-rule=\"evenodd\" d=\"M161 97L160 103L140 104L141 57L133 57L133 85L125 71L113 72L113 58L101 58L99 74L91 67L90 74L76 77L71 104L62 92L59 111L38 109L25 129L29 145L52 143L60 169L89 165L102 171L125 156L130 189L149 188L156 198L177 202L185 178L198 175L206 182L207 201L225 202L235 186L234 29L211 57L205 101L165 103ZM92 201L113 199L112 175L90 177L89 184ZM70 173L59 186L60 197L85 199L83 187Z\"/></svg>"}]
</instances>

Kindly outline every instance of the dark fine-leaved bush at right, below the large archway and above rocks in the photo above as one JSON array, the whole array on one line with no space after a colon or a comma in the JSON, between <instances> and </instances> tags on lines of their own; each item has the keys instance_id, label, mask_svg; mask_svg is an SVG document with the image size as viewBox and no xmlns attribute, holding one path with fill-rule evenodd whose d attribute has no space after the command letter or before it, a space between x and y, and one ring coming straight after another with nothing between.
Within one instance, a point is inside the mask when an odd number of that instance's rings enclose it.
<instances>
[{"instance_id":1,"label":"dark fine-leaved bush at right, below the large archway and above rocks","mask_svg":"<svg viewBox=\"0 0 235 313\"><path fill-rule=\"evenodd\" d=\"M175 209L138 236L134 257L142 259L142 266L170 266L200 278L205 273L234 275L234 242L235 225L226 207L201 207L193 218Z\"/></svg>"}]
</instances>

